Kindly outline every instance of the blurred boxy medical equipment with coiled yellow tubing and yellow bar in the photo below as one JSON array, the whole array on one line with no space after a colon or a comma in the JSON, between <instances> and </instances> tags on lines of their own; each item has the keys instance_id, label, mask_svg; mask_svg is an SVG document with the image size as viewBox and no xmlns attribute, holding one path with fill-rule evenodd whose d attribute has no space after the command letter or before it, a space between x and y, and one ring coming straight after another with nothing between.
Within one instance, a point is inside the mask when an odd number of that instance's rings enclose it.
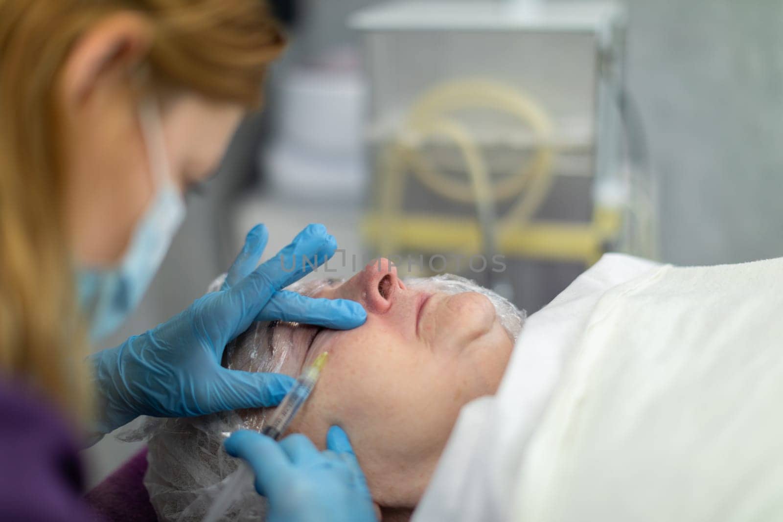
<instances>
[{"instance_id":1,"label":"blurred boxy medical equipment with coiled yellow tubing and yellow bar","mask_svg":"<svg viewBox=\"0 0 783 522\"><path fill-rule=\"evenodd\" d=\"M651 178L626 153L640 133L619 5L391 2L350 24L369 80L373 254L502 254L533 309L605 250L655 257Z\"/></svg>"}]
</instances>

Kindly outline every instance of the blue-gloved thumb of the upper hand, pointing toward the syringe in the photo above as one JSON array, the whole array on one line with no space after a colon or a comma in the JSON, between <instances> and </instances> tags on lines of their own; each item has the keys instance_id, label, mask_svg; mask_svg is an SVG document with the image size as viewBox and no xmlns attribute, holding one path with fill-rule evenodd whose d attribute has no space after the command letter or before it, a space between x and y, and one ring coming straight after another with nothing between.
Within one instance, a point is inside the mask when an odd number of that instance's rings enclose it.
<instances>
[{"instance_id":1,"label":"blue-gloved thumb of the upper hand, pointing toward the syringe","mask_svg":"<svg viewBox=\"0 0 783 522\"><path fill-rule=\"evenodd\" d=\"M221 398L221 410L276 406L295 382L293 377L282 373L243 372L226 368L221 373L222 390L215 394Z\"/></svg>"}]
</instances>

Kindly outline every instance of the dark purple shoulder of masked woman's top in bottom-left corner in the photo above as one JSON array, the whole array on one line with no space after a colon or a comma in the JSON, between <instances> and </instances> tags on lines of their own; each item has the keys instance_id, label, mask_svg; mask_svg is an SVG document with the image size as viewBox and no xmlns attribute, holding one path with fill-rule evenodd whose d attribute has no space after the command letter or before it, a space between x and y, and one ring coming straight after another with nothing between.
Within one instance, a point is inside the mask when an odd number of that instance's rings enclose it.
<instances>
[{"instance_id":1,"label":"dark purple shoulder of masked woman's top in bottom-left corner","mask_svg":"<svg viewBox=\"0 0 783 522\"><path fill-rule=\"evenodd\" d=\"M81 498L78 449L40 394L0 379L0 520L99 520Z\"/></svg>"}]
</instances>

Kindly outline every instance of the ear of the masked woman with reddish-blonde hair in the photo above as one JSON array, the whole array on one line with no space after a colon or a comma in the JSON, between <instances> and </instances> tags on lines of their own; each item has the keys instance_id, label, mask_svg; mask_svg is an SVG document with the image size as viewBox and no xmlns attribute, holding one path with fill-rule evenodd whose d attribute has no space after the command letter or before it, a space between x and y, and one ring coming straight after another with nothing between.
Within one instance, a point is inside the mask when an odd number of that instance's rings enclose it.
<instances>
[{"instance_id":1,"label":"ear of the masked woman with reddish-blonde hair","mask_svg":"<svg viewBox=\"0 0 783 522\"><path fill-rule=\"evenodd\" d=\"M70 50L60 77L61 94L81 105L100 89L126 81L152 44L150 22L125 11L106 16L88 29Z\"/></svg>"}]
</instances>

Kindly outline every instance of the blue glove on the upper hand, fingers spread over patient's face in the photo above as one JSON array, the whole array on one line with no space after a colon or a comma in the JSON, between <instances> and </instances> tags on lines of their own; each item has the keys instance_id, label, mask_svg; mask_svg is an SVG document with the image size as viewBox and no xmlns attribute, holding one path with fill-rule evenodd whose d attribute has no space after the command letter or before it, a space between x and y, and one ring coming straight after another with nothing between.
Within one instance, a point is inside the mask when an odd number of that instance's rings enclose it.
<instances>
[{"instance_id":1,"label":"blue glove on the upper hand, fingers spread over patient's face","mask_svg":"<svg viewBox=\"0 0 783 522\"><path fill-rule=\"evenodd\" d=\"M337 243L323 225L309 225L275 256L258 265L269 237L263 225L247 234L244 249L218 292L207 293L168 322L90 357L101 412L96 430L108 433L139 415L197 416L280 402L294 380L276 373L220 365L226 344L253 321L306 322L334 329L366 320L359 303L312 299L280 290L334 255ZM295 265L294 265L295 263Z\"/></svg>"}]
</instances>

